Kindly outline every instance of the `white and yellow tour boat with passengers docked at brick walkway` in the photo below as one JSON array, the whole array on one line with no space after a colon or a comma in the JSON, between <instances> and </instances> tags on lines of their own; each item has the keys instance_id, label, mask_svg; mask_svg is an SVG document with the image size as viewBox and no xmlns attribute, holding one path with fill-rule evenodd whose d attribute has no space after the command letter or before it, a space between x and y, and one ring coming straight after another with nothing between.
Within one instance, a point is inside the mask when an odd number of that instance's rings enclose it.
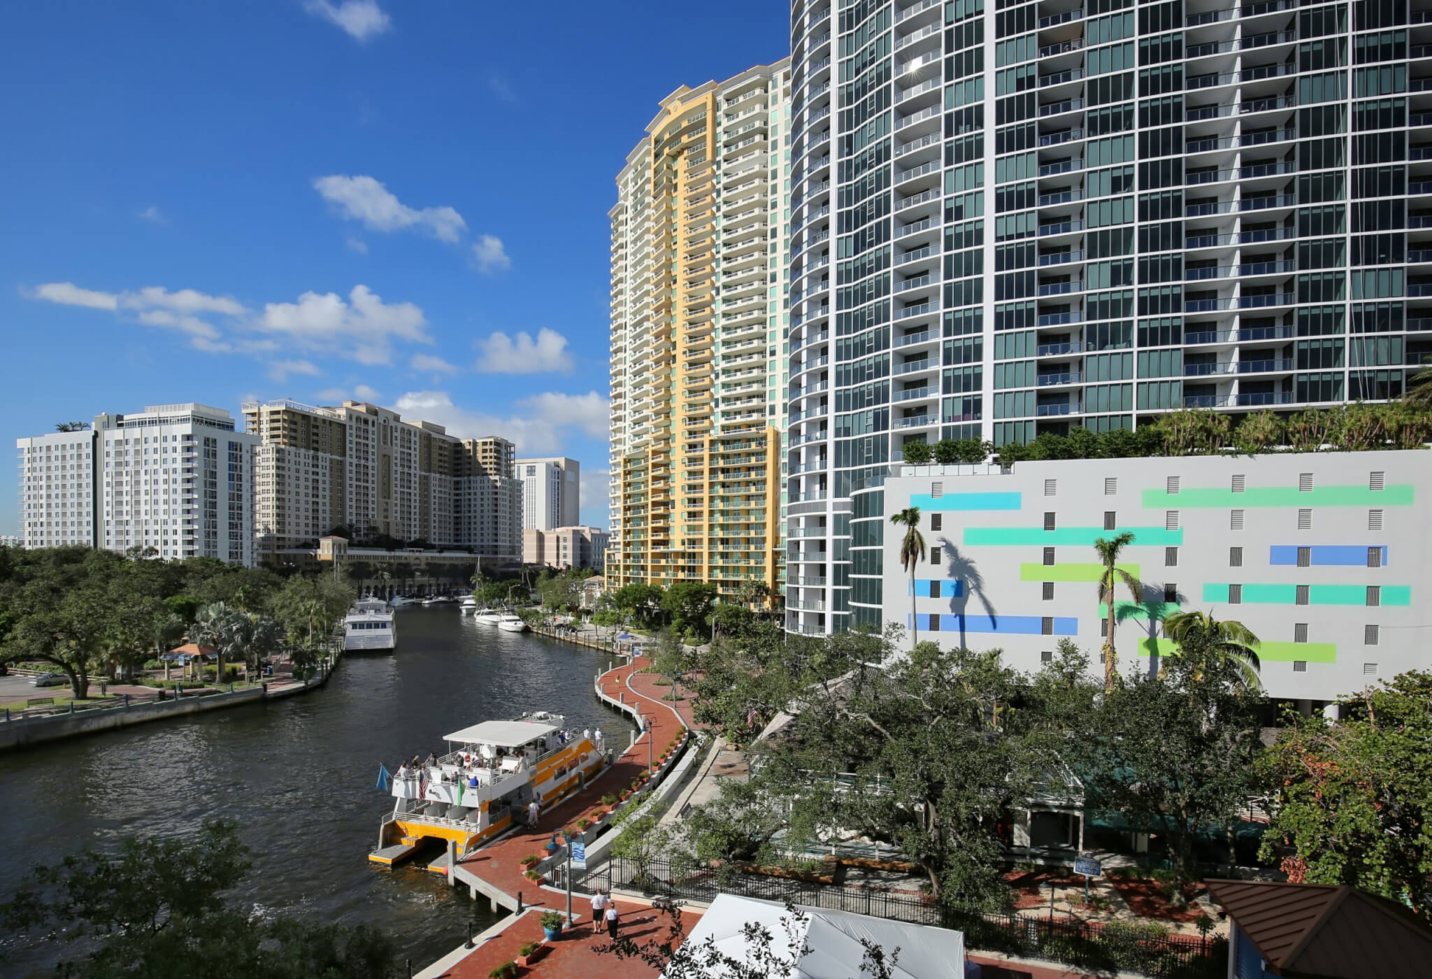
<instances>
[{"instance_id":1,"label":"white and yellow tour boat with passengers docked at brick walkway","mask_svg":"<svg viewBox=\"0 0 1432 979\"><path fill-rule=\"evenodd\" d=\"M374 863L394 864L424 839L453 840L458 856L523 822L533 799L550 806L586 786L603 756L561 730L561 714L537 711L447 734L448 753L392 776L392 812L378 830ZM430 869L445 869L440 862Z\"/></svg>"}]
</instances>

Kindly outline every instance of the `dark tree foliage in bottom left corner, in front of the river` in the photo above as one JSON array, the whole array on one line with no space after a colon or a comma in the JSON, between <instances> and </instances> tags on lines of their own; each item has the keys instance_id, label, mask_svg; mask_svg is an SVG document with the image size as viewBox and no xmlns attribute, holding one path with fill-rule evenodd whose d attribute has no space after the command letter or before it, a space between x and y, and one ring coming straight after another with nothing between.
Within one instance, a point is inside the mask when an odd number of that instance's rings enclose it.
<instances>
[{"instance_id":1,"label":"dark tree foliage in bottom left corner, in front of the river","mask_svg":"<svg viewBox=\"0 0 1432 979\"><path fill-rule=\"evenodd\" d=\"M79 942L67 979L387 979L390 939L369 927L261 917L226 892L248 873L233 823L195 840L127 837L117 853L84 850L36 867L0 905L7 935Z\"/></svg>"}]
</instances>

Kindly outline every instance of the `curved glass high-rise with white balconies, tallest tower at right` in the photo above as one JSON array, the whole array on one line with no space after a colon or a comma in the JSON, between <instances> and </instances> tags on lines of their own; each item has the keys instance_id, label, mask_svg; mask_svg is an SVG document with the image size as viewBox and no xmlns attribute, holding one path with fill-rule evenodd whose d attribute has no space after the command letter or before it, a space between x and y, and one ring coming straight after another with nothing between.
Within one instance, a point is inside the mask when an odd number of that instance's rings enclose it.
<instances>
[{"instance_id":1,"label":"curved glass high-rise with white balconies, tallest tower at right","mask_svg":"<svg viewBox=\"0 0 1432 979\"><path fill-rule=\"evenodd\" d=\"M1399 396L1429 9L796 0L788 627L881 621L905 442Z\"/></svg>"}]
</instances>

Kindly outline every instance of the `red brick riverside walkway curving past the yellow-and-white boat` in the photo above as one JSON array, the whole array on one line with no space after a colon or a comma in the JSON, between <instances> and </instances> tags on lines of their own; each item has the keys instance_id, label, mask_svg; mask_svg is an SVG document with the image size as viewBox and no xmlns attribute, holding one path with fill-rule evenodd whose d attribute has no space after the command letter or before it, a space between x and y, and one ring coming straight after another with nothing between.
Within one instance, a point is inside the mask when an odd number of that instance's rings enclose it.
<instances>
[{"instance_id":1,"label":"red brick riverside walkway curving past the yellow-and-white boat","mask_svg":"<svg viewBox=\"0 0 1432 979\"><path fill-rule=\"evenodd\" d=\"M644 660L636 661L636 668L644 666ZM610 697L617 697L619 690L624 693L626 703L637 703L643 714L652 719L652 733L654 737L654 760L660 766L662 753L672 740L680 737L686 723L670 703L662 703L653 697L637 693L630 684L633 664L620 666L601 674L599 687ZM639 680L644 678L637 674ZM639 683L639 686L642 686ZM687 708L689 710L689 708ZM497 887L510 897L523 896L528 906L566 907L566 896L540 887L523 875L521 859L536 853L546 857L546 846L551 834L564 826L573 824L579 817L589 819L604 810L601 796L617 794L629 787L634 779L646 773L649 747L646 737L629 747L617 761L591 780L581 792L569 796L557 806L544 810L537 823L537 829L518 829L491 846L485 846L461 862L464 870L481 877L485 883ZM487 975L485 972L483 973Z\"/></svg>"}]
</instances>

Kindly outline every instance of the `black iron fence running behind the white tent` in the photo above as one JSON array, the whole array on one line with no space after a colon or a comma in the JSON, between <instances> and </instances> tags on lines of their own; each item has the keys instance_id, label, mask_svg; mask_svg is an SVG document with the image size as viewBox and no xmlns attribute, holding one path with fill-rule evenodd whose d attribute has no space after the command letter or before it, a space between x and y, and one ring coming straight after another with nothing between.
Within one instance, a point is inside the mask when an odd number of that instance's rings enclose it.
<instances>
[{"instance_id":1,"label":"black iron fence running behind the white tent","mask_svg":"<svg viewBox=\"0 0 1432 979\"><path fill-rule=\"evenodd\" d=\"M613 857L591 870L581 886L589 892L593 887L617 887L700 902L710 902L722 893L739 895L951 927L964 933L969 949L1044 959L1090 970L1124 969L1158 979L1221 979L1227 975L1229 949L1224 939L1170 935L1157 923L991 915L947 907L908 892L745 873L736 867L713 870L673 866L664 859Z\"/></svg>"}]
</instances>

